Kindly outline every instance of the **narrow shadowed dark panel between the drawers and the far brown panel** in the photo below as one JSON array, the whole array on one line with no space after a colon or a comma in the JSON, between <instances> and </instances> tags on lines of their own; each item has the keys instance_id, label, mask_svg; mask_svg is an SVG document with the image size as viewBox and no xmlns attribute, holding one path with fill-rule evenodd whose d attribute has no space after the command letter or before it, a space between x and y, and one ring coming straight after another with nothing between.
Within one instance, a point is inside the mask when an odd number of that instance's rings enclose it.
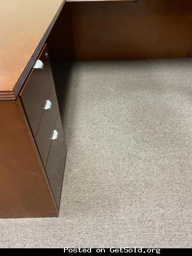
<instances>
[{"instance_id":1,"label":"narrow shadowed dark panel between the drawers and the far brown panel","mask_svg":"<svg viewBox=\"0 0 192 256\"><path fill-rule=\"evenodd\" d=\"M51 60L74 60L69 3L60 12L47 43Z\"/></svg>"}]
</instances>

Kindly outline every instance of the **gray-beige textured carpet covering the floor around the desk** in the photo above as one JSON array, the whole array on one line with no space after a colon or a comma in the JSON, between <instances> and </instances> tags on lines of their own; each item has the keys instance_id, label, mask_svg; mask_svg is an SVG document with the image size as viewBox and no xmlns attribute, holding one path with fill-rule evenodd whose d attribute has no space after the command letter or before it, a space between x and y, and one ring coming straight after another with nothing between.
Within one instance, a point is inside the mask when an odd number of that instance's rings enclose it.
<instances>
[{"instance_id":1,"label":"gray-beige textured carpet covering the floor around the desk","mask_svg":"<svg viewBox=\"0 0 192 256\"><path fill-rule=\"evenodd\" d=\"M0 246L192 247L192 59L57 72L68 148L60 216L0 220Z\"/></svg>"}]
</instances>

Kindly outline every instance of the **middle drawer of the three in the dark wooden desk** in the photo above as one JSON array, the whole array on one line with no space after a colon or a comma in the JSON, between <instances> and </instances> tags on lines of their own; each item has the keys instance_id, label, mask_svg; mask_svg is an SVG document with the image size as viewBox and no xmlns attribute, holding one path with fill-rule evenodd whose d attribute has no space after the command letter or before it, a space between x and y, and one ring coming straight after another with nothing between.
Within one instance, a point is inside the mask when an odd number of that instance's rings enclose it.
<instances>
[{"instance_id":1,"label":"middle drawer of the three in the dark wooden desk","mask_svg":"<svg viewBox=\"0 0 192 256\"><path fill-rule=\"evenodd\" d=\"M47 163L51 145L51 137L53 135L55 122L59 111L54 82L52 84L47 102L47 107L42 114L42 118L40 120L40 124L38 126L37 134L35 137L37 148L44 167Z\"/></svg>"}]
</instances>

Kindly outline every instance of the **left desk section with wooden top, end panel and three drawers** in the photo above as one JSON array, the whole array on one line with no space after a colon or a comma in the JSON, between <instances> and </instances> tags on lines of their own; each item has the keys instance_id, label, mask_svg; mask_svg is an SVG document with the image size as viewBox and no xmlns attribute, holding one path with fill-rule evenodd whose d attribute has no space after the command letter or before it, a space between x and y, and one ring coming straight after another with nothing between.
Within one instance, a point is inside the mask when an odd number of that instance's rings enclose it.
<instances>
[{"instance_id":1,"label":"left desk section with wooden top, end panel and three drawers","mask_svg":"<svg viewBox=\"0 0 192 256\"><path fill-rule=\"evenodd\" d=\"M1 0L0 218L58 216L66 151L45 42L64 3Z\"/></svg>"}]
</instances>

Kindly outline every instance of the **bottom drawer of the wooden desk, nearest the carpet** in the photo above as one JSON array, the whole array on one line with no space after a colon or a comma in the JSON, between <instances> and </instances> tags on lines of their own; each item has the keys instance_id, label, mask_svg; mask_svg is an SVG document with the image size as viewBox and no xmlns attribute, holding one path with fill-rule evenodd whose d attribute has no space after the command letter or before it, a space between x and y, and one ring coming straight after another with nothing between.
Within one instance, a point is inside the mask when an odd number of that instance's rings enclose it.
<instances>
[{"instance_id":1,"label":"bottom drawer of the wooden desk, nearest the carpet","mask_svg":"<svg viewBox=\"0 0 192 256\"><path fill-rule=\"evenodd\" d=\"M66 162L66 148L63 138L62 124L60 114L58 114L55 125L57 138L52 140L49 157L46 165L46 174L55 198L56 204L59 208L63 173Z\"/></svg>"}]
</instances>

